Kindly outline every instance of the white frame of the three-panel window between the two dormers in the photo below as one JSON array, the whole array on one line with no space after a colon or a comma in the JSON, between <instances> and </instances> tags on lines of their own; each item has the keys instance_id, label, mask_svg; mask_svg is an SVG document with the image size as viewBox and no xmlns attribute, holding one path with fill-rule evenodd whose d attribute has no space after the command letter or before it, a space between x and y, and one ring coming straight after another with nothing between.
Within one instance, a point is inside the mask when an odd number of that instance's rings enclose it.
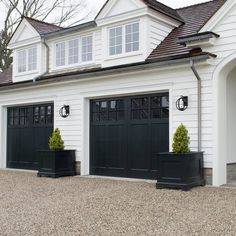
<instances>
[{"instance_id":1,"label":"white frame of the three-panel window between the two dormers","mask_svg":"<svg viewBox=\"0 0 236 236\"><path fill-rule=\"evenodd\" d=\"M82 38L83 37L92 37L92 60L91 61L82 61ZM79 47L78 47L78 63L72 63L69 64L69 42L78 39L79 41ZM63 43L65 42L65 48L66 48L66 53L65 53L65 65L63 66L57 66L56 65L56 45L59 43ZM54 55L54 59L53 59L53 70L58 70L58 69L65 69L65 68L70 68L70 67L77 67L77 66L86 66L86 65L90 65L94 63L94 33L87 33L87 34L83 34L77 37L73 37L67 40L61 40L61 41L56 41L54 43L54 47L53 47L53 55Z\"/></svg>"}]
</instances>

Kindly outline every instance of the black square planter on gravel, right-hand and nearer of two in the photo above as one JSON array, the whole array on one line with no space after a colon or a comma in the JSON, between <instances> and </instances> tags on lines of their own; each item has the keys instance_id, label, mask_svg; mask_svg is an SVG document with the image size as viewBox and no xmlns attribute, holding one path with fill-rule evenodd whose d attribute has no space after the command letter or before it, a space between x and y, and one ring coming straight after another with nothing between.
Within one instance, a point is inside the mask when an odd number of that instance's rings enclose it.
<instances>
[{"instance_id":1,"label":"black square planter on gravel, right-hand and nearer of two","mask_svg":"<svg viewBox=\"0 0 236 236\"><path fill-rule=\"evenodd\" d=\"M159 153L157 188L189 191L204 186L203 152L188 154Z\"/></svg>"}]
</instances>

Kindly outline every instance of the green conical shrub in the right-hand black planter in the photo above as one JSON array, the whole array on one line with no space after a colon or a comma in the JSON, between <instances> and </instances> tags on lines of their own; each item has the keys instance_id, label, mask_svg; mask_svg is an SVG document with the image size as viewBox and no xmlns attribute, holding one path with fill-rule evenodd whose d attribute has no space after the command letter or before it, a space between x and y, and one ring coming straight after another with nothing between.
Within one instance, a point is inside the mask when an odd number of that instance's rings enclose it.
<instances>
[{"instance_id":1,"label":"green conical shrub in the right-hand black planter","mask_svg":"<svg viewBox=\"0 0 236 236\"><path fill-rule=\"evenodd\" d=\"M190 144L190 138L188 136L188 130L183 124L181 124L177 128L174 134L173 145L172 145L173 152L189 153L190 152L189 144Z\"/></svg>"}]
</instances>

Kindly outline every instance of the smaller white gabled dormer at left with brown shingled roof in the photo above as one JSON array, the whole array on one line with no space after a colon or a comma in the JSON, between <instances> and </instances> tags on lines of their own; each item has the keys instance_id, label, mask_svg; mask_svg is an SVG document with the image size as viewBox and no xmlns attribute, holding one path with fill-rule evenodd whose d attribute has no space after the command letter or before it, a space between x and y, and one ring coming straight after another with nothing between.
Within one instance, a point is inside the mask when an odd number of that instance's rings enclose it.
<instances>
[{"instance_id":1,"label":"smaller white gabled dormer at left with brown shingled roof","mask_svg":"<svg viewBox=\"0 0 236 236\"><path fill-rule=\"evenodd\" d=\"M13 50L13 83L33 80L47 71L47 49L43 35L61 27L22 18L8 47Z\"/></svg>"}]
</instances>

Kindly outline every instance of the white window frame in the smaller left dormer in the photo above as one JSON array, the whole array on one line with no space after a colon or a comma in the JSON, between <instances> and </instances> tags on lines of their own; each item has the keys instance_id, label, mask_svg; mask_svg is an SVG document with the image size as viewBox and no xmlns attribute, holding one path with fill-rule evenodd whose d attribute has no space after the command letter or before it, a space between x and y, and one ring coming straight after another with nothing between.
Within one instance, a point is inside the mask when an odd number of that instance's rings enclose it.
<instances>
[{"instance_id":1,"label":"white window frame in the smaller left dormer","mask_svg":"<svg viewBox=\"0 0 236 236\"><path fill-rule=\"evenodd\" d=\"M33 50L33 49L36 50L36 61L35 61L36 66L33 69L29 69L29 67L30 67L29 65L31 64L31 63L29 63L30 62L29 61L29 51ZM26 70L20 72L19 71L19 54L21 52L25 52L25 54L26 54ZM16 52L16 55L17 55L16 73L18 75L24 75L24 74L28 74L28 73L35 73L35 72L37 72L37 70L38 70L38 47L37 46L20 49L20 50L18 50Z\"/></svg>"}]
</instances>

